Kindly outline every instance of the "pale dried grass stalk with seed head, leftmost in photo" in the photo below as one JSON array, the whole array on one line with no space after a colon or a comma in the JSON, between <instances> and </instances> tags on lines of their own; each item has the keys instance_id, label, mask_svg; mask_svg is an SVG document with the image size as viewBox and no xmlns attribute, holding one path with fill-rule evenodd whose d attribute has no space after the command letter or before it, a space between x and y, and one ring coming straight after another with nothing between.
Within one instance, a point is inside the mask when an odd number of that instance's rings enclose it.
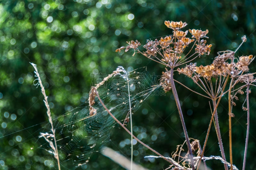
<instances>
[{"instance_id":1,"label":"pale dried grass stalk with seed head, leftmost in photo","mask_svg":"<svg viewBox=\"0 0 256 170\"><path fill-rule=\"evenodd\" d=\"M52 134L48 134L48 133L41 133L41 135L39 137L44 137L44 139L50 144L53 152L54 152L54 157L57 159L57 162L58 162L58 168L60 170L60 159L59 159L59 154L58 154L58 148L57 148L57 142L56 142L56 137L55 137L55 129L53 128L53 123L52 123L52 116L51 116L51 111L50 111L50 106L48 104L48 100L47 100L47 96L45 94L45 89L44 89L44 86L43 86L43 83L41 81L41 78L40 78L40 75L38 73L38 70L36 68L36 64L34 63L30 63L34 69L35 69L35 74L36 74L36 77L37 77L37 80L38 80L38 83L36 85L40 85L41 87L41 92L42 94L44 95L44 104L45 104L45 107L47 108L47 115L48 115L48 119L49 119L49 122L51 124L51 130L52 130ZM49 140L49 137L53 137L54 139L54 145L52 144L52 141Z\"/></svg>"}]
</instances>

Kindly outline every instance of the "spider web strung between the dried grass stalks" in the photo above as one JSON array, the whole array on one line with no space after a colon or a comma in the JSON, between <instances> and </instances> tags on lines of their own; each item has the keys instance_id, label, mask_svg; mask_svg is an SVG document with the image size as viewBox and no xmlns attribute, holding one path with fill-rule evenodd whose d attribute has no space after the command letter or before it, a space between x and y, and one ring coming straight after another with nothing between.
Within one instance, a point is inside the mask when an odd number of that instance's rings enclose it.
<instances>
[{"instance_id":1,"label":"spider web strung between the dried grass stalks","mask_svg":"<svg viewBox=\"0 0 256 170\"><path fill-rule=\"evenodd\" d=\"M124 122L130 114L128 85L132 114L136 114L136 110L148 96L163 94L159 89L160 85L156 84L159 79L157 76L152 78L146 68L143 68L142 72L138 70L127 72L127 77L126 74L120 74L109 78L97 89L103 103L120 122ZM89 162L92 153L100 151L100 148L110 140L109 131L116 124L97 97L93 107L97 110L94 115L90 115L90 107L85 106L76 108L54 120L60 160L72 161L73 168L86 167L85 164ZM48 126L45 127L46 129ZM47 146L48 144L44 144L41 147L51 153Z\"/></svg>"}]
</instances>

